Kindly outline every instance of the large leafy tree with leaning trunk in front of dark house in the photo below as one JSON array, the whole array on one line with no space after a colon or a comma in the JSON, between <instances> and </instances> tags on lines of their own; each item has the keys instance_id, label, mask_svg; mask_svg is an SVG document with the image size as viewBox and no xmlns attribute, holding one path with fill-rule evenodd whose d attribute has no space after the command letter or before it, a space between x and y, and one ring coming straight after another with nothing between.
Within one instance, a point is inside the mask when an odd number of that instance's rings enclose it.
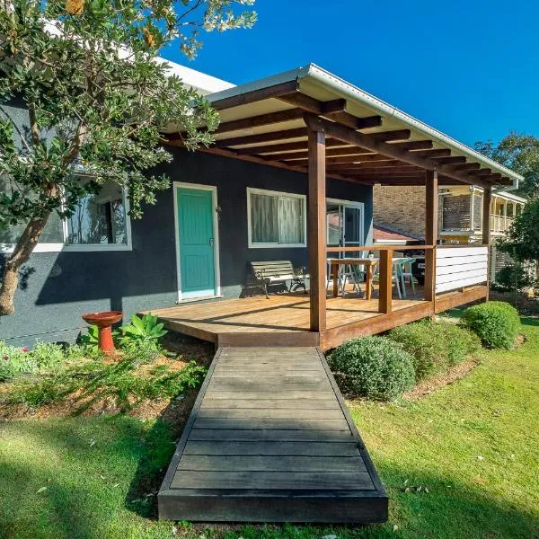
<instances>
[{"instance_id":1,"label":"large leafy tree with leaning trunk in front of dark house","mask_svg":"<svg viewBox=\"0 0 539 539\"><path fill-rule=\"evenodd\" d=\"M178 126L189 149L211 142L216 111L155 57L174 42L192 58L199 31L251 27L255 13L238 9L253 2L2 0L0 230L24 229L4 264L0 315L13 314L19 271L53 212L72 216L80 199L115 181L138 218L169 184L151 172L172 160L163 128ZM10 117L14 99L28 125Z\"/></svg>"}]
</instances>

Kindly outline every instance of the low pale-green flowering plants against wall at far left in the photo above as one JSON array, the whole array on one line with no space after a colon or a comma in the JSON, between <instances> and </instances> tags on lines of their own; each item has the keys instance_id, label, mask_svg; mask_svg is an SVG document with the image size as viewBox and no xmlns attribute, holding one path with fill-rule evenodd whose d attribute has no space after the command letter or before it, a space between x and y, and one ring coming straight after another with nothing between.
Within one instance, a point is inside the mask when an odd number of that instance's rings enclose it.
<instances>
[{"instance_id":1,"label":"low pale-green flowering plants against wall at far left","mask_svg":"<svg viewBox=\"0 0 539 539\"><path fill-rule=\"evenodd\" d=\"M60 367L66 361L61 346L39 341L34 349L14 347L0 340L0 382L21 375L31 375Z\"/></svg>"}]
</instances>

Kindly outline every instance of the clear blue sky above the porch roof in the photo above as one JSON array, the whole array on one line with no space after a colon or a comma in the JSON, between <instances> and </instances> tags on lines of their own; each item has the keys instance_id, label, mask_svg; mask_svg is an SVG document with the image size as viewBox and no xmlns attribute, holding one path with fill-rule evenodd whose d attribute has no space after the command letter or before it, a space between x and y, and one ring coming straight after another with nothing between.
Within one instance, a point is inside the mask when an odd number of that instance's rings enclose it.
<instances>
[{"instance_id":1,"label":"clear blue sky above the porch roof","mask_svg":"<svg viewBox=\"0 0 539 539\"><path fill-rule=\"evenodd\" d=\"M314 62L465 144L539 136L539 2L257 0L252 30L189 62L241 84Z\"/></svg>"}]
</instances>

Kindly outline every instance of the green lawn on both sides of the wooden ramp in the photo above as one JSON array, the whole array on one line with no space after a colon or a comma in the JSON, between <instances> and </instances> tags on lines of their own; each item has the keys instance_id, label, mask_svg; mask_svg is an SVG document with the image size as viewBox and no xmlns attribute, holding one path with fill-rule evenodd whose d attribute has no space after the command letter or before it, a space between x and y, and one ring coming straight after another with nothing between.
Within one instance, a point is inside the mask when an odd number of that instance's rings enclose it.
<instances>
[{"instance_id":1,"label":"green lawn on both sides of the wooden ramp","mask_svg":"<svg viewBox=\"0 0 539 539\"><path fill-rule=\"evenodd\" d=\"M523 322L520 349L482 352L469 376L436 393L349 402L390 496L387 525L157 522L155 489L178 432L163 420L103 415L0 423L0 536L539 537L539 321Z\"/></svg>"}]
</instances>

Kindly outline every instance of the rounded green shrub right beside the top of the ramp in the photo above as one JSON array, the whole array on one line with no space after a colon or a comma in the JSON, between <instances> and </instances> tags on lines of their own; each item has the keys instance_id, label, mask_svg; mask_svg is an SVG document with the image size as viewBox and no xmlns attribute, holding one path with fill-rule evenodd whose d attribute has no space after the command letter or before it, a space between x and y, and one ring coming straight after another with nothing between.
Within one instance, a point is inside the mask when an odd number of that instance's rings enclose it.
<instances>
[{"instance_id":1,"label":"rounded green shrub right beside the top of the ramp","mask_svg":"<svg viewBox=\"0 0 539 539\"><path fill-rule=\"evenodd\" d=\"M397 399L411 389L412 361L399 344L384 337L349 340L328 358L343 392L381 401Z\"/></svg>"}]
</instances>

